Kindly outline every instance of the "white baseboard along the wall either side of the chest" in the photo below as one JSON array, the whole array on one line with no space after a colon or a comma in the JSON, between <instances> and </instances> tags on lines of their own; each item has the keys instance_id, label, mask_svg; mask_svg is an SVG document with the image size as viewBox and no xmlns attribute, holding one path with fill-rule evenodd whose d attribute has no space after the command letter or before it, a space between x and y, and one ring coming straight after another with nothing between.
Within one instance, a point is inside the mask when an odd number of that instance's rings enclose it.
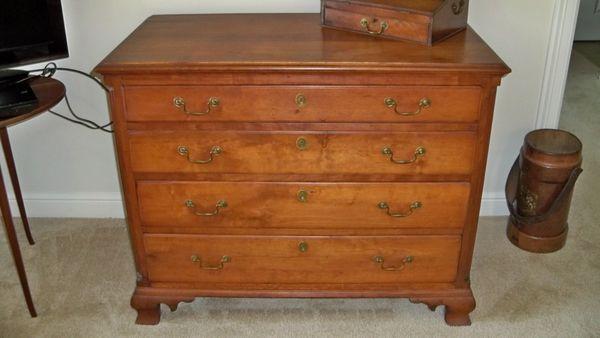
<instances>
[{"instance_id":1,"label":"white baseboard along the wall either side of the chest","mask_svg":"<svg viewBox=\"0 0 600 338\"><path fill-rule=\"evenodd\" d=\"M14 217L19 209L14 198L10 198ZM28 217L64 218L124 218L121 194L28 194L25 196ZM508 214L504 195L485 194L481 203L482 216L504 216Z\"/></svg>"}]
</instances>

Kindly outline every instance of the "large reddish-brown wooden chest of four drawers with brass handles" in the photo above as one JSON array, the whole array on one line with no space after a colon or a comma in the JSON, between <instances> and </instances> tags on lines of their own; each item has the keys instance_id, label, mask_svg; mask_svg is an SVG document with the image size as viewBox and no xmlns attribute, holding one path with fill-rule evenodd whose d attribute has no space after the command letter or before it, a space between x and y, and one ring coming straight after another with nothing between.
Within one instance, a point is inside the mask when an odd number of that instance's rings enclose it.
<instances>
[{"instance_id":1,"label":"large reddish-brown wooden chest of four drawers with brass handles","mask_svg":"<svg viewBox=\"0 0 600 338\"><path fill-rule=\"evenodd\" d=\"M137 323L203 296L406 297L470 323L509 72L472 30L429 48L322 29L318 14L154 16L96 71L112 88Z\"/></svg>"}]
</instances>

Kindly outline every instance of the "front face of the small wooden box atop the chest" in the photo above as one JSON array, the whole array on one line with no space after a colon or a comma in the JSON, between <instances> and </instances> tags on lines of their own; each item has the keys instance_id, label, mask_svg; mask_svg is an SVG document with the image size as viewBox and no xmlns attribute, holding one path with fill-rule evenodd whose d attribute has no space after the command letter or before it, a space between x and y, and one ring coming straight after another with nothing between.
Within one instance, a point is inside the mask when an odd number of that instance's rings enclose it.
<instances>
[{"instance_id":1,"label":"front face of the small wooden box atop the chest","mask_svg":"<svg viewBox=\"0 0 600 338\"><path fill-rule=\"evenodd\" d=\"M327 2L323 24L423 44L429 42L431 30L431 18L426 15L335 1Z\"/></svg>"}]
</instances>

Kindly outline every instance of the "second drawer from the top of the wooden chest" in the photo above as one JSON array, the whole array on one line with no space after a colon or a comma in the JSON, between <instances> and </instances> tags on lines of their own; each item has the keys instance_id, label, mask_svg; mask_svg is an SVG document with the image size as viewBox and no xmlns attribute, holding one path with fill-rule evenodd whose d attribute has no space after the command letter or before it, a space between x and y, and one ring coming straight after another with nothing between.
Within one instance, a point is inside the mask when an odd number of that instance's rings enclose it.
<instances>
[{"instance_id":1,"label":"second drawer from the top of the wooden chest","mask_svg":"<svg viewBox=\"0 0 600 338\"><path fill-rule=\"evenodd\" d=\"M136 172L470 174L472 132L132 132Z\"/></svg>"}]
</instances>

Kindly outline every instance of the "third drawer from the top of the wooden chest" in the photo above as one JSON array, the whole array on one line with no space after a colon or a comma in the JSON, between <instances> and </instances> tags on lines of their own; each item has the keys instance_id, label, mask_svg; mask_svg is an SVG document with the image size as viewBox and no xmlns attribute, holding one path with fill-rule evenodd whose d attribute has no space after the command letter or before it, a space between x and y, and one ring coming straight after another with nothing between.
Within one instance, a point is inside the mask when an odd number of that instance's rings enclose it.
<instances>
[{"instance_id":1,"label":"third drawer from the top of the wooden chest","mask_svg":"<svg viewBox=\"0 0 600 338\"><path fill-rule=\"evenodd\" d=\"M138 196L144 226L462 228L469 184L138 182Z\"/></svg>"}]
</instances>

